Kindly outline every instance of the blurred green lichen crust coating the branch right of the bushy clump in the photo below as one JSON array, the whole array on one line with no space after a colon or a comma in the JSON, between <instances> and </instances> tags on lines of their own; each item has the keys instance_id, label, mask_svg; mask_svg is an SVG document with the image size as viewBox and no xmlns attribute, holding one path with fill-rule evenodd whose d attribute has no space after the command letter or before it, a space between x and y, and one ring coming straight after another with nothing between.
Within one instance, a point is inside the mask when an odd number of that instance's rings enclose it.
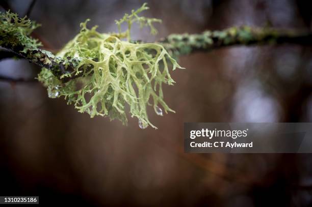
<instances>
[{"instance_id":1,"label":"blurred green lichen crust coating the branch right of the bushy clump","mask_svg":"<svg viewBox=\"0 0 312 207\"><path fill-rule=\"evenodd\" d=\"M171 34L161 43L174 57L191 54L194 51L209 51L235 44L249 45L254 42L274 43L277 31L269 28L232 26L222 31L205 31L201 34Z\"/></svg>"}]
</instances>

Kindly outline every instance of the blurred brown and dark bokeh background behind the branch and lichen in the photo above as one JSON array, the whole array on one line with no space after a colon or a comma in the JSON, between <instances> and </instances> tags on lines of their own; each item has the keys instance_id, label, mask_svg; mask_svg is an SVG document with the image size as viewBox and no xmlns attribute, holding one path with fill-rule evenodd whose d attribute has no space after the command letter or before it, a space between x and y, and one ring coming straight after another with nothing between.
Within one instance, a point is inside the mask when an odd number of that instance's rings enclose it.
<instances>
[{"instance_id":1,"label":"blurred brown and dark bokeh background behind the branch and lichen","mask_svg":"<svg viewBox=\"0 0 312 207\"><path fill-rule=\"evenodd\" d=\"M309 1L157 0L36 1L34 37L57 52L87 18L100 32L117 32L124 13L147 2L161 18L159 34L133 29L133 39L199 33L233 25L311 30ZM21 16L32 1L1 1ZM39 195L42 205L309 206L311 155L186 154L184 122L312 122L312 48L298 45L230 47L180 57L165 101L176 113L156 115L158 130L141 130L78 113L49 99L32 81L40 68L0 62L0 194ZM311 137L312 138L312 137Z\"/></svg>"}]
</instances>

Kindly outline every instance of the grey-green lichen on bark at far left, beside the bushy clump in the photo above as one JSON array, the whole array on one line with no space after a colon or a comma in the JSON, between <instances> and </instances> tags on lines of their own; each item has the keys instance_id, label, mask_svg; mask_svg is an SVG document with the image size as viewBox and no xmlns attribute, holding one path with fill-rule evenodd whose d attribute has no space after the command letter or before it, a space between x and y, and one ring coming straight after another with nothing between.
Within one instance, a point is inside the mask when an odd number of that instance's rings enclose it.
<instances>
[{"instance_id":1,"label":"grey-green lichen on bark at far left, beside the bushy clump","mask_svg":"<svg viewBox=\"0 0 312 207\"><path fill-rule=\"evenodd\" d=\"M32 63L48 68L55 76L61 77L74 71L79 64L79 58L63 59L55 56L42 46L38 40L30 37L35 28L40 26L27 17L19 18L17 14L0 13L0 46L14 51Z\"/></svg>"}]
</instances>

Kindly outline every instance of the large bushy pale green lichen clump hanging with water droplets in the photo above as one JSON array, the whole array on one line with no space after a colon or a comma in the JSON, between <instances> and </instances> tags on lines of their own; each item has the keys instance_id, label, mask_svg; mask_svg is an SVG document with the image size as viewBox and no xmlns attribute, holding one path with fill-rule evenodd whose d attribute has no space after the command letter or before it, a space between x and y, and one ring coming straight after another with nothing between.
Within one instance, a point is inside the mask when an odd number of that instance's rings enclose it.
<instances>
[{"instance_id":1,"label":"large bushy pale green lichen clump hanging with water droplets","mask_svg":"<svg viewBox=\"0 0 312 207\"><path fill-rule=\"evenodd\" d=\"M160 20L138 16L146 9L144 4L131 15L125 14L117 25L126 22L128 28L117 34L100 34L96 26L87 28L88 20L82 23L80 33L57 54L62 58L79 58L74 73L62 76L79 77L62 83L43 68L38 79L48 88L49 96L64 96L79 112L87 112L91 117L108 115L111 120L119 119L124 124L128 105L132 117L139 119L141 128L147 125L156 128L148 119L146 107L153 105L158 114L159 106L166 113L173 112L163 100L162 84L174 83L170 66L172 70L181 67L161 44L131 42L130 29L134 22L150 26L151 33L155 33L152 23Z\"/></svg>"}]
</instances>

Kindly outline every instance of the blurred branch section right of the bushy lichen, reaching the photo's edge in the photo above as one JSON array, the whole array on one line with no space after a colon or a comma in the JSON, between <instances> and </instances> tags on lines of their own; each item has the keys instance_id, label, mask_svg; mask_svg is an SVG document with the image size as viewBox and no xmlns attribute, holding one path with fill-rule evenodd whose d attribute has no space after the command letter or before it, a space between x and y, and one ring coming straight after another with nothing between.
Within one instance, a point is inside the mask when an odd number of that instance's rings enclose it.
<instances>
[{"instance_id":1,"label":"blurred branch section right of the bushy lichen, reaching the photo's edge","mask_svg":"<svg viewBox=\"0 0 312 207\"><path fill-rule=\"evenodd\" d=\"M298 44L312 46L312 33L262 27L230 27L223 31L201 34L172 34L160 41L167 50L177 55L205 52L233 45Z\"/></svg>"}]
</instances>

